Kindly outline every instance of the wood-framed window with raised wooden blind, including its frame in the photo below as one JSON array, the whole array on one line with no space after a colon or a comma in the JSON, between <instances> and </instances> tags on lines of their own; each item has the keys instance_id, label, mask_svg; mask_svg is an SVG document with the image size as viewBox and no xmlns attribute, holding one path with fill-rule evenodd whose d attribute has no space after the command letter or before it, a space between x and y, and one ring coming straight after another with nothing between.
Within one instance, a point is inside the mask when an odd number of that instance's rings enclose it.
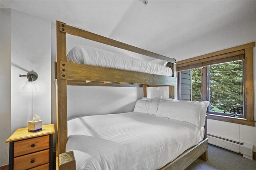
<instances>
[{"instance_id":1,"label":"wood-framed window with raised wooden blind, including its frame","mask_svg":"<svg viewBox=\"0 0 256 170\"><path fill-rule=\"evenodd\" d=\"M190 101L210 102L208 119L254 126L254 46L248 43L177 62L179 100L184 100L182 83L187 82Z\"/></svg>"}]
</instances>

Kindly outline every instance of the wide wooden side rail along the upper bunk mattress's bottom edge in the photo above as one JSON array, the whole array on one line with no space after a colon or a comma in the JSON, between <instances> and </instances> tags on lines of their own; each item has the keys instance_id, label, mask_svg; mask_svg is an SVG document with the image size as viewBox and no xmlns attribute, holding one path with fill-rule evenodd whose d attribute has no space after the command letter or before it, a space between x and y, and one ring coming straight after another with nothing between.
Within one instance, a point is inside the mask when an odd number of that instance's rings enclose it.
<instances>
[{"instance_id":1,"label":"wide wooden side rail along the upper bunk mattress's bottom edge","mask_svg":"<svg viewBox=\"0 0 256 170\"><path fill-rule=\"evenodd\" d=\"M170 76L160 76L144 72L118 70L70 62L60 62L60 74L60 79L64 80L91 80L166 86L175 86L177 83L176 78Z\"/></svg>"}]
</instances>

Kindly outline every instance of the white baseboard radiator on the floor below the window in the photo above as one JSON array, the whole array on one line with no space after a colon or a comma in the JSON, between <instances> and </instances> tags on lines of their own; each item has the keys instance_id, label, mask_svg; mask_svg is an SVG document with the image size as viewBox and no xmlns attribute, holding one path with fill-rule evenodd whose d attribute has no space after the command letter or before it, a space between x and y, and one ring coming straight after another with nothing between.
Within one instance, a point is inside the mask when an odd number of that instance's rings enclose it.
<instances>
[{"instance_id":1,"label":"white baseboard radiator on the floor below the window","mask_svg":"<svg viewBox=\"0 0 256 170\"><path fill-rule=\"evenodd\" d=\"M222 147L224 149L232 150L233 152L237 152L242 154L245 158L252 160L253 158L253 145L249 143L241 143L238 141L234 141L232 139L227 139L224 137L219 137L212 134L207 134L209 143L212 145L216 145L218 147Z\"/></svg>"}]
</instances>

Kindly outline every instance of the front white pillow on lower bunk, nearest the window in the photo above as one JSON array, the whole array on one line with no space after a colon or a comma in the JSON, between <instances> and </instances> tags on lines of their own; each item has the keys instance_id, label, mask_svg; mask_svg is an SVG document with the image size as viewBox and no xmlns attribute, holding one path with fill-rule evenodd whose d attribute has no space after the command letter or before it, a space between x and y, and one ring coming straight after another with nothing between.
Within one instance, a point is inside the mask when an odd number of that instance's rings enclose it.
<instances>
[{"instance_id":1,"label":"front white pillow on lower bunk, nearest the window","mask_svg":"<svg viewBox=\"0 0 256 170\"><path fill-rule=\"evenodd\" d=\"M201 108L202 104L192 102L160 100L156 116L186 121L188 123L192 123L196 127L199 127Z\"/></svg>"}]
</instances>

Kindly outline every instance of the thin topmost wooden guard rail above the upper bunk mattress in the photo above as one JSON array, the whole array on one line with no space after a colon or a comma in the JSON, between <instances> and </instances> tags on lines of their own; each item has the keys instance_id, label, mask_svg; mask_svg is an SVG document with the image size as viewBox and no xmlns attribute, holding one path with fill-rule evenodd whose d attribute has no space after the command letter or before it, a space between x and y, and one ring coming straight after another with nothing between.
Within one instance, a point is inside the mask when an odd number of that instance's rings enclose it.
<instances>
[{"instance_id":1,"label":"thin topmost wooden guard rail above the upper bunk mattress","mask_svg":"<svg viewBox=\"0 0 256 170\"><path fill-rule=\"evenodd\" d=\"M132 51L134 53L146 55L146 56L153 57L153 58L156 58L156 59L168 61L170 63L176 63L176 59L172 59L172 58L166 57L164 55L160 55L160 54L156 54L156 53L144 50L144 49L140 49L138 47L134 47L132 45L128 45L126 43L122 43L122 42L116 41L114 39L103 37L101 35L91 33L89 31L85 31L85 30L80 29L80 28L72 27L70 25L67 25L66 23L59 22L59 25L57 25L57 27L59 27L60 31L62 31L64 33L68 33L70 35L75 35L75 36L78 36L78 37L90 39L92 41L96 41L96 42L99 42L99 43L102 43L102 44L110 45L110 46L117 47L117 48L124 49L124 50L128 50L128 51Z\"/></svg>"}]
</instances>

